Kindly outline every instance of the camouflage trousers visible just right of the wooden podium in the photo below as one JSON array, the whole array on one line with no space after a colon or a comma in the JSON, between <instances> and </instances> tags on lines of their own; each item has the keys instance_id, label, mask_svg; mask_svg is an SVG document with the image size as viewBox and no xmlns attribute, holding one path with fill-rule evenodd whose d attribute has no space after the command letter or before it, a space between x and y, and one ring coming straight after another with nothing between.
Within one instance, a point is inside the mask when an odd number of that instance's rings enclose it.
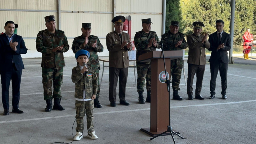
<instances>
[{"instance_id":1,"label":"camouflage trousers visible just right of the wooden podium","mask_svg":"<svg viewBox=\"0 0 256 144\"><path fill-rule=\"evenodd\" d=\"M171 76L172 76L172 89L180 90L182 65L171 65Z\"/></svg>"}]
</instances>

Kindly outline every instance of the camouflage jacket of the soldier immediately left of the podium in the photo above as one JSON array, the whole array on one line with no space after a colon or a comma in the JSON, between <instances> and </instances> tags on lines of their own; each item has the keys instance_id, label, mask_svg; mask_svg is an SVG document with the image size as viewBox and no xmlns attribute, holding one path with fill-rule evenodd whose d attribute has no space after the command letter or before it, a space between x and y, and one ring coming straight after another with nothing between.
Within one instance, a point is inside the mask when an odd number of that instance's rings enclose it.
<instances>
[{"instance_id":1,"label":"camouflage jacket of the soldier immediately left of the podium","mask_svg":"<svg viewBox=\"0 0 256 144\"><path fill-rule=\"evenodd\" d=\"M152 38L155 38L155 40L157 41L157 46L154 47L152 44L152 46L148 48L149 41ZM161 45L159 45L160 40L159 40L156 32L154 32L154 31L149 31L149 33L145 33L144 31L136 32L136 34L134 36L134 43L135 43L135 47L137 49L137 53L136 53L136 63L137 64L150 64L150 62L138 62L139 56L144 53L156 51L156 48L161 48Z\"/></svg>"}]
</instances>

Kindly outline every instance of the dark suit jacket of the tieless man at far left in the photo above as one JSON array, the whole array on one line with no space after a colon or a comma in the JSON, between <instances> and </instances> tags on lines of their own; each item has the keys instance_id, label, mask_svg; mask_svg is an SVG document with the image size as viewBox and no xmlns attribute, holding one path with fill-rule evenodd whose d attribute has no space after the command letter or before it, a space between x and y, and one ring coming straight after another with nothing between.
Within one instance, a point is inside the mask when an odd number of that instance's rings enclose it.
<instances>
[{"instance_id":1,"label":"dark suit jacket of the tieless man at far left","mask_svg":"<svg viewBox=\"0 0 256 144\"><path fill-rule=\"evenodd\" d=\"M10 47L6 34L0 35L0 70L8 71L12 69L12 59L17 70L24 69L21 54L27 53L27 48L21 36L13 34L12 42L18 42L17 51Z\"/></svg>"}]
</instances>

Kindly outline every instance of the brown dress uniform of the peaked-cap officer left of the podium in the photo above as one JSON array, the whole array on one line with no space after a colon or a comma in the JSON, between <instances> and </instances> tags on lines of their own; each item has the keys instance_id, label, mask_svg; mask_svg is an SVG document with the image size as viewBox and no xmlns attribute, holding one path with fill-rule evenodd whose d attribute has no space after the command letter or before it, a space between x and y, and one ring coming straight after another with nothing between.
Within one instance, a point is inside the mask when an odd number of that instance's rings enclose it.
<instances>
[{"instance_id":1,"label":"brown dress uniform of the peaked-cap officer left of the podium","mask_svg":"<svg viewBox=\"0 0 256 144\"><path fill-rule=\"evenodd\" d=\"M109 51L109 101L116 101L116 87L117 80L119 78L119 100L125 100L125 87L128 77L128 67L129 67L129 56L127 51L131 51L132 47L129 49L121 45L124 41L127 44L130 42L129 34L121 33L122 41L120 36L116 31L108 33L106 37L107 49Z\"/></svg>"}]
</instances>

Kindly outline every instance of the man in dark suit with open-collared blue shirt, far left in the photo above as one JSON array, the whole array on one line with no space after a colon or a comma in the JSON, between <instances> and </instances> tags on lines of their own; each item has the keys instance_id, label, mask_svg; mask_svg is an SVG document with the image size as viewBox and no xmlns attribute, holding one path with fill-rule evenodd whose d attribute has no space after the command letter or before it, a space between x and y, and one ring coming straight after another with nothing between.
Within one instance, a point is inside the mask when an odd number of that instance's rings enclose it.
<instances>
[{"instance_id":1,"label":"man in dark suit with open-collared blue shirt, far left","mask_svg":"<svg viewBox=\"0 0 256 144\"><path fill-rule=\"evenodd\" d=\"M2 102L4 115L9 115L9 87L12 83L12 112L23 113L19 109L21 73L24 69L21 54L27 48L21 36L14 34L15 24L7 21L5 33L0 35L0 74L2 84Z\"/></svg>"}]
</instances>

